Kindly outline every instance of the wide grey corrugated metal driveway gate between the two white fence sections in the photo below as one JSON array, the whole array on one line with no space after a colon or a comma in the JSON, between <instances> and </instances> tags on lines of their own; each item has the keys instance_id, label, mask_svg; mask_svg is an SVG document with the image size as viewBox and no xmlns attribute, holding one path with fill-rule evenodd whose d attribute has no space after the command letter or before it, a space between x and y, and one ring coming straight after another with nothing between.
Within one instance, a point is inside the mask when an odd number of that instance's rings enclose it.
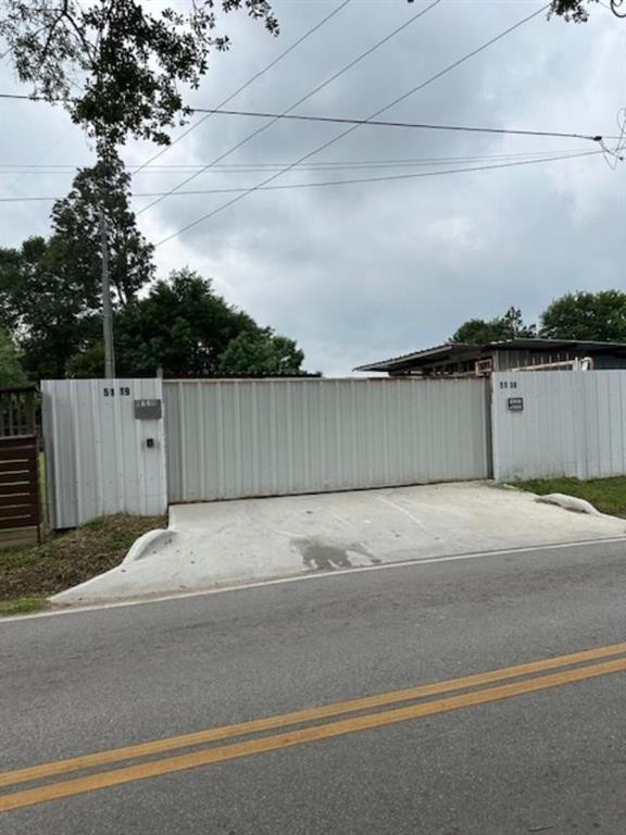
<instances>
[{"instance_id":1,"label":"wide grey corrugated metal driveway gate between the two white fence sections","mask_svg":"<svg viewBox=\"0 0 626 835\"><path fill-rule=\"evenodd\" d=\"M170 500L487 477L487 385L166 381Z\"/></svg>"}]
</instances>

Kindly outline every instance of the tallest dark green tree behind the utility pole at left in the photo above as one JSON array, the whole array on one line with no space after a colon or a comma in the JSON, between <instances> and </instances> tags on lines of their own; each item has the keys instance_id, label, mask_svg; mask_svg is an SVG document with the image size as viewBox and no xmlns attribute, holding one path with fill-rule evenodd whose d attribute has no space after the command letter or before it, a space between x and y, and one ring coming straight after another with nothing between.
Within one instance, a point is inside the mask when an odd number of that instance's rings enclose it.
<instances>
[{"instance_id":1,"label":"tallest dark green tree behind the utility pole at left","mask_svg":"<svg viewBox=\"0 0 626 835\"><path fill-rule=\"evenodd\" d=\"M100 212L115 307L132 302L154 275L152 246L129 208L129 176L107 153L78 171L51 212L52 235L0 250L0 317L34 378L65 376L72 357L101 329Z\"/></svg>"}]
</instances>

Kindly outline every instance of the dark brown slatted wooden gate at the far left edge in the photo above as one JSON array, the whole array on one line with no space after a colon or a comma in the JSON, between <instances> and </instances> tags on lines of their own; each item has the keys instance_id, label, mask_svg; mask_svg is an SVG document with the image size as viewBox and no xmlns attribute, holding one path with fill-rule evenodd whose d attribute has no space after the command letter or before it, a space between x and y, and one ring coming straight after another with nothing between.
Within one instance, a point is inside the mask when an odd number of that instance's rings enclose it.
<instances>
[{"instance_id":1,"label":"dark brown slatted wooden gate at the far left edge","mask_svg":"<svg viewBox=\"0 0 626 835\"><path fill-rule=\"evenodd\" d=\"M0 390L0 548L39 537L35 389Z\"/></svg>"}]
</instances>

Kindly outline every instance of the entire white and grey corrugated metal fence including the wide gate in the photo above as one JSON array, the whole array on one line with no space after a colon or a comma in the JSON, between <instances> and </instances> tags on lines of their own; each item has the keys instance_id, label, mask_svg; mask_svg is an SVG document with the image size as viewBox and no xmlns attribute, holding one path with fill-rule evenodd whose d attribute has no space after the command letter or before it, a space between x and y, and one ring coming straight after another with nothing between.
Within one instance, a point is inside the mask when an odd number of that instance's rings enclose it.
<instances>
[{"instance_id":1,"label":"entire white and grey corrugated metal fence including the wide gate","mask_svg":"<svg viewBox=\"0 0 626 835\"><path fill-rule=\"evenodd\" d=\"M53 527L167 501L626 474L626 371L45 381L41 391Z\"/></svg>"}]
</instances>

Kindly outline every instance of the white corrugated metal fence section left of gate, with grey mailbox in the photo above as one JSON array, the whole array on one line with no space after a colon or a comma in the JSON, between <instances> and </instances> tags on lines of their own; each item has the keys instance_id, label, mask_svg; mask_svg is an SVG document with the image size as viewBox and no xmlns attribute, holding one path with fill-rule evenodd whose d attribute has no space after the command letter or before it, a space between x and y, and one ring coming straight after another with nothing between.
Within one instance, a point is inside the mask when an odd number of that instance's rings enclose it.
<instances>
[{"instance_id":1,"label":"white corrugated metal fence section left of gate, with grey mailbox","mask_svg":"<svg viewBox=\"0 0 626 835\"><path fill-rule=\"evenodd\" d=\"M52 527L165 511L163 420L136 420L134 412L135 400L162 399L160 379L48 379L41 394Z\"/></svg>"}]
</instances>

